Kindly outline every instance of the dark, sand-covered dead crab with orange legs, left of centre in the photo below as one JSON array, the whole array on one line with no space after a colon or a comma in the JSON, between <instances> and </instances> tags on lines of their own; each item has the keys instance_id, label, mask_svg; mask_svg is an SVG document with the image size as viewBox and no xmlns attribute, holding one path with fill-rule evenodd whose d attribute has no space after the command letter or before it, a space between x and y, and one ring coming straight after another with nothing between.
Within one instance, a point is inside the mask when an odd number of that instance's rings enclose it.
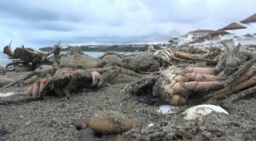
<instances>
[{"instance_id":1,"label":"dark, sand-covered dead crab with orange legs, left of centre","mask_svg":"<svg viewBox=\"0 0 256 141\"><path fill-rule=\"evenodd\" d=\"M100 88L104 82L97 71L85 71L82 69L61 68L55 75L37 80L30 85L26 93L32 97L43 99L54 93L60 97L70 97L71 92L89 88Z\"/></svg>"}]
</instances>

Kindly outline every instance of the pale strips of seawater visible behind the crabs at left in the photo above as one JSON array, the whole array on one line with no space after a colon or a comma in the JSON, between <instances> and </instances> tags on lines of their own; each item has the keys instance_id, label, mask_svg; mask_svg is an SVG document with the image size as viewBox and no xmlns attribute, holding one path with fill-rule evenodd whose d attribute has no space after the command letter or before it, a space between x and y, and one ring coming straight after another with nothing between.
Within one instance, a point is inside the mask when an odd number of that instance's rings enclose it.
<instances>
[{"instance_id":1,"label":"pale strips of seawater visible behind the crabs at left","mask_svg":"<svg viewBox=\"0 0 256 141\"><path fill-rule=\"evenodd\" d=\"M43 53L47 53L47 52L43 52ZM61 54L65 54L67 52L61 52ZM104 52L84 52L84 54L87 54L91 57L100 57L102 55L104 55ZM5 53L3 52L0 52L0 66L3 66L5 67L6 64L12 62L10 59L8 59L8 55L6 55Z\"/></svg>"}]
</instances>

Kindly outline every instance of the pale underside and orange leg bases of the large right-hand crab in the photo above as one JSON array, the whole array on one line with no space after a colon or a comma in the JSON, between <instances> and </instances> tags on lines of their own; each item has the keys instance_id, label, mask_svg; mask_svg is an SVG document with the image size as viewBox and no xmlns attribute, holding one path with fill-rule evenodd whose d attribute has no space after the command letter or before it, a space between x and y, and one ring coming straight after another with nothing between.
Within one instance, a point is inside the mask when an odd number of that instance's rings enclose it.
<instances>
[{"instance_id":1,"label":"pale underside and orange leg bases of the large right-hand crab","mask_svg":"<svg viewBox=\"0 0 256 141\"><path fill-rule=\"evenodd\" d=\"M221 77L202 73L189 73L190 68L170 67L164 70L153 86L153 95L171 105L180 106L187 102L192 91L204 92L223 87Z\"/></svg>"}]
</instances>

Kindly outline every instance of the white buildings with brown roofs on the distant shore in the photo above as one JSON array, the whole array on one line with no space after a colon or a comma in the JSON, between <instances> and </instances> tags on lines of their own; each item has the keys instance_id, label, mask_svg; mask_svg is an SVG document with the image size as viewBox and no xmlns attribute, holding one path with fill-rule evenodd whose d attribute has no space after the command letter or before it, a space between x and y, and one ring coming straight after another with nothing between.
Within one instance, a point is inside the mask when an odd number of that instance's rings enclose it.
<instances>
[{"instance_id":1,"label":"white buildings with brown roofs on the distant shore","mask_svg":"<svg viewBox=\"0 0 256 141\"><path fill-rule=\"evenodd\" d=\"M173 44L173 47L209 48L211 46L223 47L220 41L224 41L227 46L237 46L239 43L242 46L248 46L256 44L256 37L251 34L235 37L234 33L224 30L194 30L185 35L173 36L169 42Z\"/></svg>"}]
</instances>

